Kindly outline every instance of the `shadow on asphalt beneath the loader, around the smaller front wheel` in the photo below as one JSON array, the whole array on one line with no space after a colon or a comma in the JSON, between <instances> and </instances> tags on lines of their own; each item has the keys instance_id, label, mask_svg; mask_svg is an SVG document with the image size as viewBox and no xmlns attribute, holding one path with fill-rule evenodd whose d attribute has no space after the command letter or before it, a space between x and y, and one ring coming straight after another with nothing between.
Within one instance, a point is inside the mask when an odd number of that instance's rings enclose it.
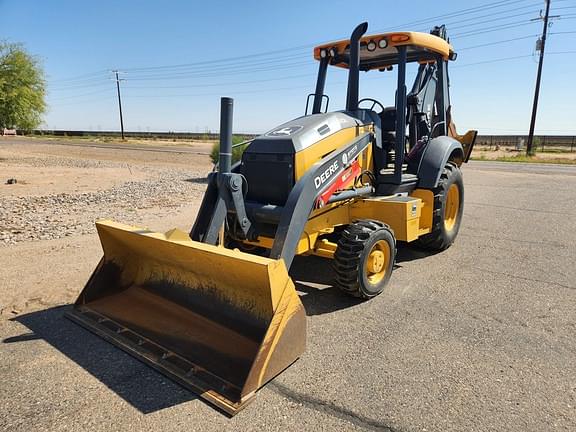
<instances>
[{"instance_id":1,"label":"shadow on asphalt beneath the loader, around the smaller front wheel","mask_svg":"<svg viewBox=\"0 0 576 432\"><path fill-rule=\"evenodd\" d=\"M398 244L394 268L401 267L403 262L426 258L431 254L408 244ZM308 316L336 312L365 301L346 295L334 285L332 261L329 259L296 256L290 268L290 276Z\"/></svg>"}]
</instances>

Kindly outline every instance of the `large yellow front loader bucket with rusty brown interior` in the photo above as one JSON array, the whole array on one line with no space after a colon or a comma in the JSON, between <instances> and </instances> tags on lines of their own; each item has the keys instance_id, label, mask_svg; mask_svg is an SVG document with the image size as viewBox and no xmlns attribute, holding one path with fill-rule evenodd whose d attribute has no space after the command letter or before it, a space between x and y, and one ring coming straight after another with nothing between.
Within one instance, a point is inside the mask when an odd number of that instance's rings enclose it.
<instances>
[{"instance_id":1,"label":"large yellow front loader bucket with rusty brown interior","mask_svg":"<svg viewBox=\"0 0 576 432\"><path fill-rule=\"evenodd\" d=\"M104 257L69 318L233 415L304 352L282 260L97 224Z\"/></svg>"}]
</instances>

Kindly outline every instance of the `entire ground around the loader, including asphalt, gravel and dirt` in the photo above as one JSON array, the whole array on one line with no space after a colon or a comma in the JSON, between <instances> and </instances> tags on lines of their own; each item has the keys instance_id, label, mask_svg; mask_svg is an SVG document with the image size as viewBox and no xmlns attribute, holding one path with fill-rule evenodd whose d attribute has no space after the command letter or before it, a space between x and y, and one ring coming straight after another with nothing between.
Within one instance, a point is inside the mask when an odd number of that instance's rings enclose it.
<instances>
[{"instance_id":1,"label":"entire ground around the loader, including asphalt, gravel and dirt","mask_svg":"<svg viewBox=\"0 0 576 432\"><path fill-rule=\"evenodd\" d=\"M576 167L468 164L456 243L368 302L296 260L307 351L230 419L63 317L94 221L188 230L211 169L93 144L0 140L0 430L576 430Z\"/></svg>"}]
</instances>

